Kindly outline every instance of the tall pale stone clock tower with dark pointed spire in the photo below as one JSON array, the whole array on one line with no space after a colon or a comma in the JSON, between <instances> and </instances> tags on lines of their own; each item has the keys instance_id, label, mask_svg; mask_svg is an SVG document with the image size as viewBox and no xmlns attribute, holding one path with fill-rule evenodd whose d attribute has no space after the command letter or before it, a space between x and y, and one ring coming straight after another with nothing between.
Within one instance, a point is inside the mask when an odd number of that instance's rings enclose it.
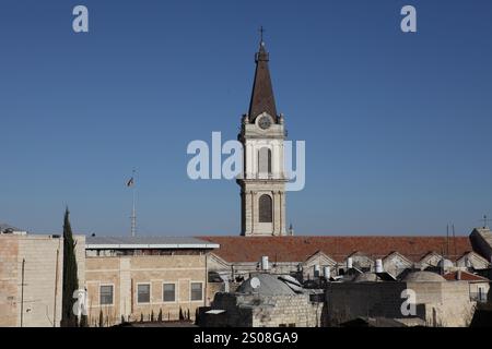
<instances>
[{"instance_id":1,"label":"tall pale stone clock tower with dark pointed spire","mask_svg":"<svg viewBox=\"0 0 492 349\"><path fill-rule=\"evenodd\" d=\"M243 116L238 134L244 152L243 177L237 179L242 236L285 236L284 119L277 115L262 39L255 61L249 111Z\"/></svg>"}]
</instances>

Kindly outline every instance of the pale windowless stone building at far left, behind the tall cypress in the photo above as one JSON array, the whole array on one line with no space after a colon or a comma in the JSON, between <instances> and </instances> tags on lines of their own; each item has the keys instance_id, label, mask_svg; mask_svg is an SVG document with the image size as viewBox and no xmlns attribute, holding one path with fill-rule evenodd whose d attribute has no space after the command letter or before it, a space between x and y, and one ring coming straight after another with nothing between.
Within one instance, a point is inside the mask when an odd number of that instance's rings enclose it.
<instances>
[{"instance_id":1,"label":"pale windowless stone building at far left, behind the tall cypress","mask_svg":"<svg viewBox=\"0 0 492 349\"><path fill-rule=\"evenodd\" d=\"M0 233L0 327L58 327L63 238L15 231ZM78 278L83 286L85 237L74 239Z\"/></svg>"}]
</instances>

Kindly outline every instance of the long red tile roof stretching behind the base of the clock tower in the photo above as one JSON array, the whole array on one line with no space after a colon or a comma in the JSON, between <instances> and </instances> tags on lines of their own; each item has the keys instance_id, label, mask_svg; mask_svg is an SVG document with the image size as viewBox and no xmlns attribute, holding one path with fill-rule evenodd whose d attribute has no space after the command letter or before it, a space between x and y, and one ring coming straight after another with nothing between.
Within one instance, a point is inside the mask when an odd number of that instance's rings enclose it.
<instances>
[{"instance_id":1,"label":"long red tile roof stretching behind the base of the clock tower","mask_svg":"<svg viewBox=\"0 0 492 349\"><path fill-rule=\"evenodd\" d=\"M213 253L226 262L257 262L269 256L271 262L304 262L323 251L337 262L344 261L354 252L362 252L372 258L382 258L391 252L399 252L413 262L420 261L431 251L442 253L445 237L199 237L220 244ZM449 250L460 257L472 251L468 237L450 240Z\"/></svg>"}]
</instances>

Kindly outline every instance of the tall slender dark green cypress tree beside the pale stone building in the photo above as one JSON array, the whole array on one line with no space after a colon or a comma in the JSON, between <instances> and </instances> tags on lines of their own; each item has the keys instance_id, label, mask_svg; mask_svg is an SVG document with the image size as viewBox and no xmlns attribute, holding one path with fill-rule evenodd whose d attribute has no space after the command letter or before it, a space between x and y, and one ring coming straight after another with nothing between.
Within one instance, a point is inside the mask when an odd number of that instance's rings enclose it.
<instances>
[{"instance_id":1,"label":"tall slender dark green cypress tree beside the pale stone building","mask_svg":"<svg viewBox=\"0 0 492 349\"><path fill-rule=\"evenodd\" d=\"M73 292L79 289L77 277L75 242L70 226L70 212L67 207L63 219L63 287L61 294L61 326L75 327L78 318L73 314Z\"/></svg>"}]
</instances>

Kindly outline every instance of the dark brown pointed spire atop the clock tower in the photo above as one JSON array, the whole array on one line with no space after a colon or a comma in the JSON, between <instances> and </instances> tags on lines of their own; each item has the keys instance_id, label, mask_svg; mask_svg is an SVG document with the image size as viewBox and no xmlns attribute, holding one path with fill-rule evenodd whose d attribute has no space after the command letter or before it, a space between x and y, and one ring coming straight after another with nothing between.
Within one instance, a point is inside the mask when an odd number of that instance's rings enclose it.
<instances>
[{"instance_id":1,"label":"dark brown pointed spire atop the clock tower","mask_svg":"<svg viewBox=\"0 0 492 349\"><path fill-rule=\"evenodd\" d=\"M270 70L268 69L269 55L265 48L263 28L260 29L261 41L256 53L256 72L253 84L251 101L249 103L249 121L262 112L269 113L277 119L276 99L273 97L273 87L271 85Z\"/></svg>"}]
</instances>

